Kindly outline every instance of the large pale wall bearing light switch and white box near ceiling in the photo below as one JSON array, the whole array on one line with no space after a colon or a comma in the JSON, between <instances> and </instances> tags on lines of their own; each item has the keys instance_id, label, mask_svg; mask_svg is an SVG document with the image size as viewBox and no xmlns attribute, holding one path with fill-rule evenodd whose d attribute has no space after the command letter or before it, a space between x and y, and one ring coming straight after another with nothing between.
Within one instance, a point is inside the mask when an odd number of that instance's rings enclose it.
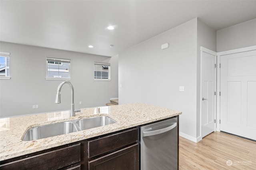
<instances>
[{"instance_id":1,"label":"large pale wall bearing light switch and white box near ceiling","mask_svg":"<svg viewBox=\"0 0 256 170\"><path fill-rule=\"evenodd\" d=\"M182 111L180 132L196 138L196 39L197 18L119 53L119 103ZM170 47L162 50L167 42Z\"/></svg>"}]
</instances>

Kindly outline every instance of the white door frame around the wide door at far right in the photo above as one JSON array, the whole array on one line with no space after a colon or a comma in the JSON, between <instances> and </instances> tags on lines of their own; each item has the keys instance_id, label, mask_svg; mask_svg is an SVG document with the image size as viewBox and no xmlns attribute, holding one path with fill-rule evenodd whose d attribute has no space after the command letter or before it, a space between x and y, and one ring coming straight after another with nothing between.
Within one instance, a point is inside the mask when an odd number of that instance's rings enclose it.
<instances>
[{"instance_id":1,"label":"white door frame around the wide door at far right","mask_svg":"<svg viewBox=\"0 0 256 170\"><path fill-rule=\"evenodd\" d=\"M239 49L232 49L228 51L222 51L217 53L217 106L216 106L216 131L220 131L220 57L223 55L230 55L230 54L235 54L235 53L242 53L246 51L252 51L256 50L256 45L250 46L250 47L243 47Z\"/></svg>"}]
</instances>

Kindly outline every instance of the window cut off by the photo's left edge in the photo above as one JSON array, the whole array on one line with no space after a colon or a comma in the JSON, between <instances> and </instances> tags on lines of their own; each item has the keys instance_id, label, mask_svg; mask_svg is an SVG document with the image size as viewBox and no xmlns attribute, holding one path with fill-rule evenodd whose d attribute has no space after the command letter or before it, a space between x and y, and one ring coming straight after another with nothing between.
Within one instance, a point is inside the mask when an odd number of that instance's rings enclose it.
<instances>
[{"instance_id":1,"label":"window cut off by the photo's left edge","mask_svg":"<svg viewBox=\"0 0 256 170\"><path fill-rule=\"evenodd\" d=\"M10 53L0 52L0 79L10 79Z\"/></svg>"}]
</instances>

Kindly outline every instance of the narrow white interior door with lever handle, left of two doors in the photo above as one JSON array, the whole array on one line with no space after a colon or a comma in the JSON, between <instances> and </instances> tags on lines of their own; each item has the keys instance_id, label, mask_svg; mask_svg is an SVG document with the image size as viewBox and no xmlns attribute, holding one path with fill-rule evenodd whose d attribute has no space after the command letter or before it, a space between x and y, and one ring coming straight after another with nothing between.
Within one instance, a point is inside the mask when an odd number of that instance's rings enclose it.
<instances>
[{"instance_id":1,"label":"narrow white interior door with lever handle, left of two doors","mask_svg":"<svg viewBox=\"0 0 256 170\"><path fill-rule=\"evenodd\" d=\"M216 56L201 52L202 137L215 131Z\"/></svg>"}]
</instances>

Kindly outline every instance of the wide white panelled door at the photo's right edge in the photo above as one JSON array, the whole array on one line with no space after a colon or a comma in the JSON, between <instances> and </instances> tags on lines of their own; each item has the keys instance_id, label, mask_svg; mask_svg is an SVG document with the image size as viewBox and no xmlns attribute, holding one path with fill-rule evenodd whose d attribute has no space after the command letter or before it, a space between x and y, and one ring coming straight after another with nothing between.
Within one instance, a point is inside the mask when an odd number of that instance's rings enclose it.
<instances>
[{"instance_id":1,"label":"wide white panelled door at the photo's right edge","mask_svg":"<svg viewBox=\"0 0 256 170\"><path fill-rule=\"evenodd\" d=\"M220 130L256 140L256 50L220 63Z\"/></svg>"}]
</instances>

